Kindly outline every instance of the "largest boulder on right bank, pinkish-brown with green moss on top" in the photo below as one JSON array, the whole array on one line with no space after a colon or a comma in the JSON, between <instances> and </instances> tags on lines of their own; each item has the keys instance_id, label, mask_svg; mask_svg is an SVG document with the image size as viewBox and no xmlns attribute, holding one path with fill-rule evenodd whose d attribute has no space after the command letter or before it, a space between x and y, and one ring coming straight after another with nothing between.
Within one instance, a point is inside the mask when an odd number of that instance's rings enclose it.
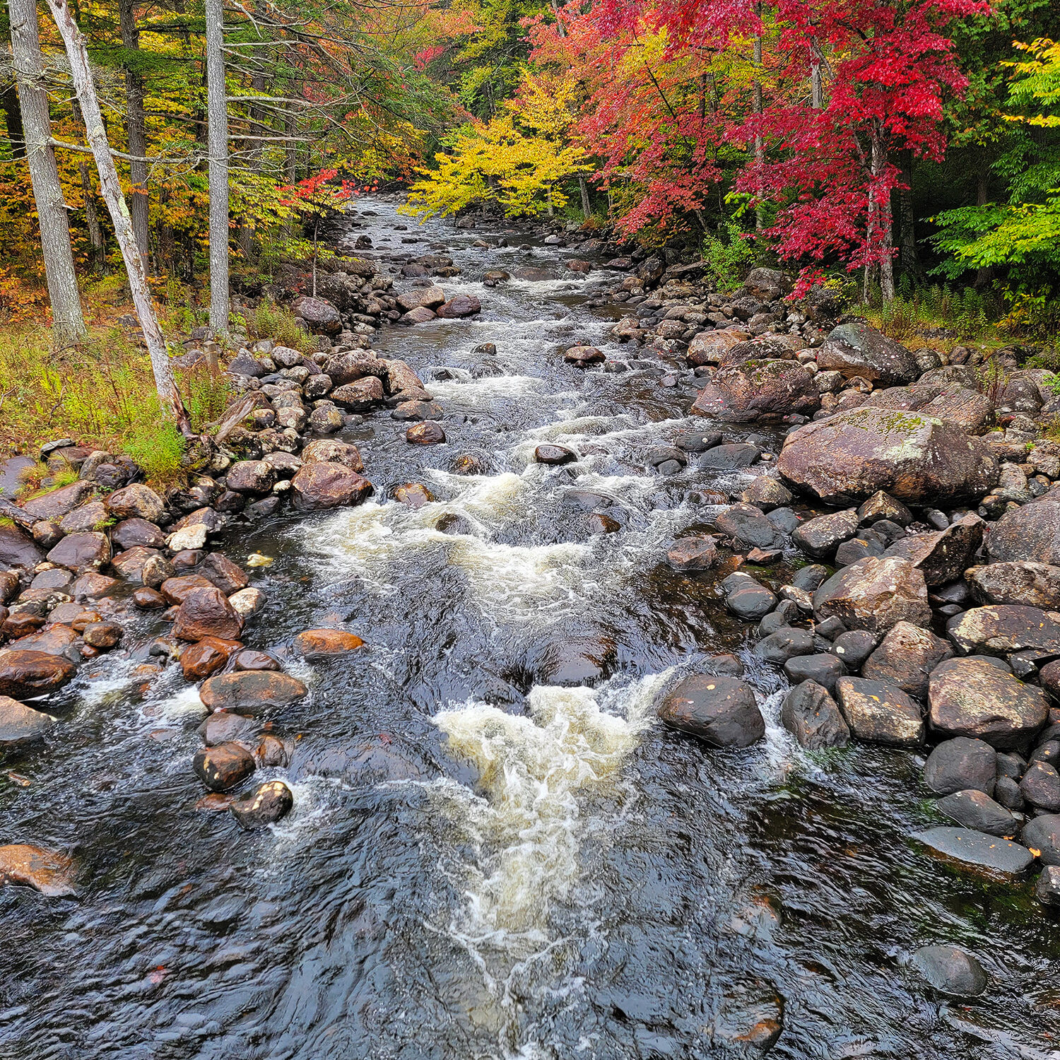
<instances>
[{"instance_id":1,"label":"largest boulder on right bank, pinkish-brown with green moss on top","mask_svg":"<svg viewBox=\"0 0 1060 1060\"><path fill-rule=\"evenodd\" d=\"M978 499L997 481L986 443L919 412L856 408L808 423L784 441L781 476L834 505L878 490L906 504Z\"/></svg>"}]
</instances>

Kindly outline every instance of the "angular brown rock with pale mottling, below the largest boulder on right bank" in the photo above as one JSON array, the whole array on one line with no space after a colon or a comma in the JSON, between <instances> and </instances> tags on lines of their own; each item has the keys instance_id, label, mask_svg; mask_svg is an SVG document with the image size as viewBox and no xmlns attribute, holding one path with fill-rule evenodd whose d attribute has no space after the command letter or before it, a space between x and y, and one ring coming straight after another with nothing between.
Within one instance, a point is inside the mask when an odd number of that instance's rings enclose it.
<instances>
[{"instance_id":1,"label":"angular brown rock with pale mottling, below the largest boulder on right bank","mask_svg":"<svg viewBox=\"0 0 1060 1060\"><path fill-rule=\"evenodd\" d=\"M899 622L931 623L923 575L907 560L869 555L836 571L813 595L817 621L883 633Z\"/></svg>"}]
</instances>

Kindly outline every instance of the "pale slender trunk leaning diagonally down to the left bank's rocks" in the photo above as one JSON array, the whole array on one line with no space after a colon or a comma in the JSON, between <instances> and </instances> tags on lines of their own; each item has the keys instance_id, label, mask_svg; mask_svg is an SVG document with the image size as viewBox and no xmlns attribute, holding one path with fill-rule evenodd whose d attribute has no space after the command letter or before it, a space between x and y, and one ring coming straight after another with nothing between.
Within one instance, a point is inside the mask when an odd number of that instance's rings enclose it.
<instances>
[{"instance_id":1,"label":"pale slender trunk leaning diagonally down to the left bank's rocks","mask_svg":"<svg viewBox=\"0 0 1060 1060\"><path fill-rule=\"evenodd\" d=\"M180 392L173 379L173 369L165 352L165 339L162 329L155 316L155 307L151 303L151 290L147 287L147 275L143 266L143 258L137 246L132 232L132 218L122 195L118 170L110 155L110 144L107 142L107 130L103 125L103 114L100 112L100 101L95 96L95 86L92 84L92 71L88 65L88 52L85 50L85 38L81 35L67 0L48 0L52 17L58 26L63 43L66 46L70 59L70 75L74 91L81 103L81 112L85 119L85 136L95 158L95 167L100 174L100 191L110 212L114 225L114 236L121 248L128 273L129 290L132 294L132 304L136 307L143 337L151 355L151 367L155 373L155 386L163 413L167 412L177 422L177 426L186 435L190 432L188 412L180 400Z\"/></svg>"}]
</instances>

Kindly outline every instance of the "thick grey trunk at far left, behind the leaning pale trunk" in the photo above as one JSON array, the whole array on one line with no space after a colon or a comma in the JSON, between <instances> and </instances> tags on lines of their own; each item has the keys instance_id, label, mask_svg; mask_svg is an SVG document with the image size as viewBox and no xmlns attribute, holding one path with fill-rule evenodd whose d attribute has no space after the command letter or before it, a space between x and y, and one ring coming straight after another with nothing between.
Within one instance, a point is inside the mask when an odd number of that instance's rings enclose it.
<instances>
[{"instance_id":1,"label":"thick grey trunk at far left, behind the leaning pale trunk","mask_svg":"<svg viewBox=\"0 0 1060 1060\"><path fill-rule=\"evenodd\" d=\"M57 346L80 342L88 335L81 310L77 273L70 249L70 224L63 186L51 147L48 94L40 88L43 57L35 0L10 0L11 43L18 100L25 129L25 154L40 224L48 297L52 303L53 337Z\"/></svg>"}]
</instances>

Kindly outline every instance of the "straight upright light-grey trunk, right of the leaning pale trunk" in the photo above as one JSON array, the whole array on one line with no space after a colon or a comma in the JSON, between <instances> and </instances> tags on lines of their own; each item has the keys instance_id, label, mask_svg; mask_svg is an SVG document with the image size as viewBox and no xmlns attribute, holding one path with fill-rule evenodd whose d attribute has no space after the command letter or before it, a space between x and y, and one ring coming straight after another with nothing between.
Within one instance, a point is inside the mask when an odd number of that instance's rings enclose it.
<instances>
[{"instance_id":1,"label":"straight upright light-grey trunk, right of the leaning pale trunk","mask_svg":"<svg viewBox=\"0 0 1060 1060\"><path fill-rule=\"evenodd\" d=\"M51 2L51 0L49 0ZM228 101L225 99L225 4L206 0L207 111L210 147L210 326L228 333Z\"/></svg>"}]
</instances>

